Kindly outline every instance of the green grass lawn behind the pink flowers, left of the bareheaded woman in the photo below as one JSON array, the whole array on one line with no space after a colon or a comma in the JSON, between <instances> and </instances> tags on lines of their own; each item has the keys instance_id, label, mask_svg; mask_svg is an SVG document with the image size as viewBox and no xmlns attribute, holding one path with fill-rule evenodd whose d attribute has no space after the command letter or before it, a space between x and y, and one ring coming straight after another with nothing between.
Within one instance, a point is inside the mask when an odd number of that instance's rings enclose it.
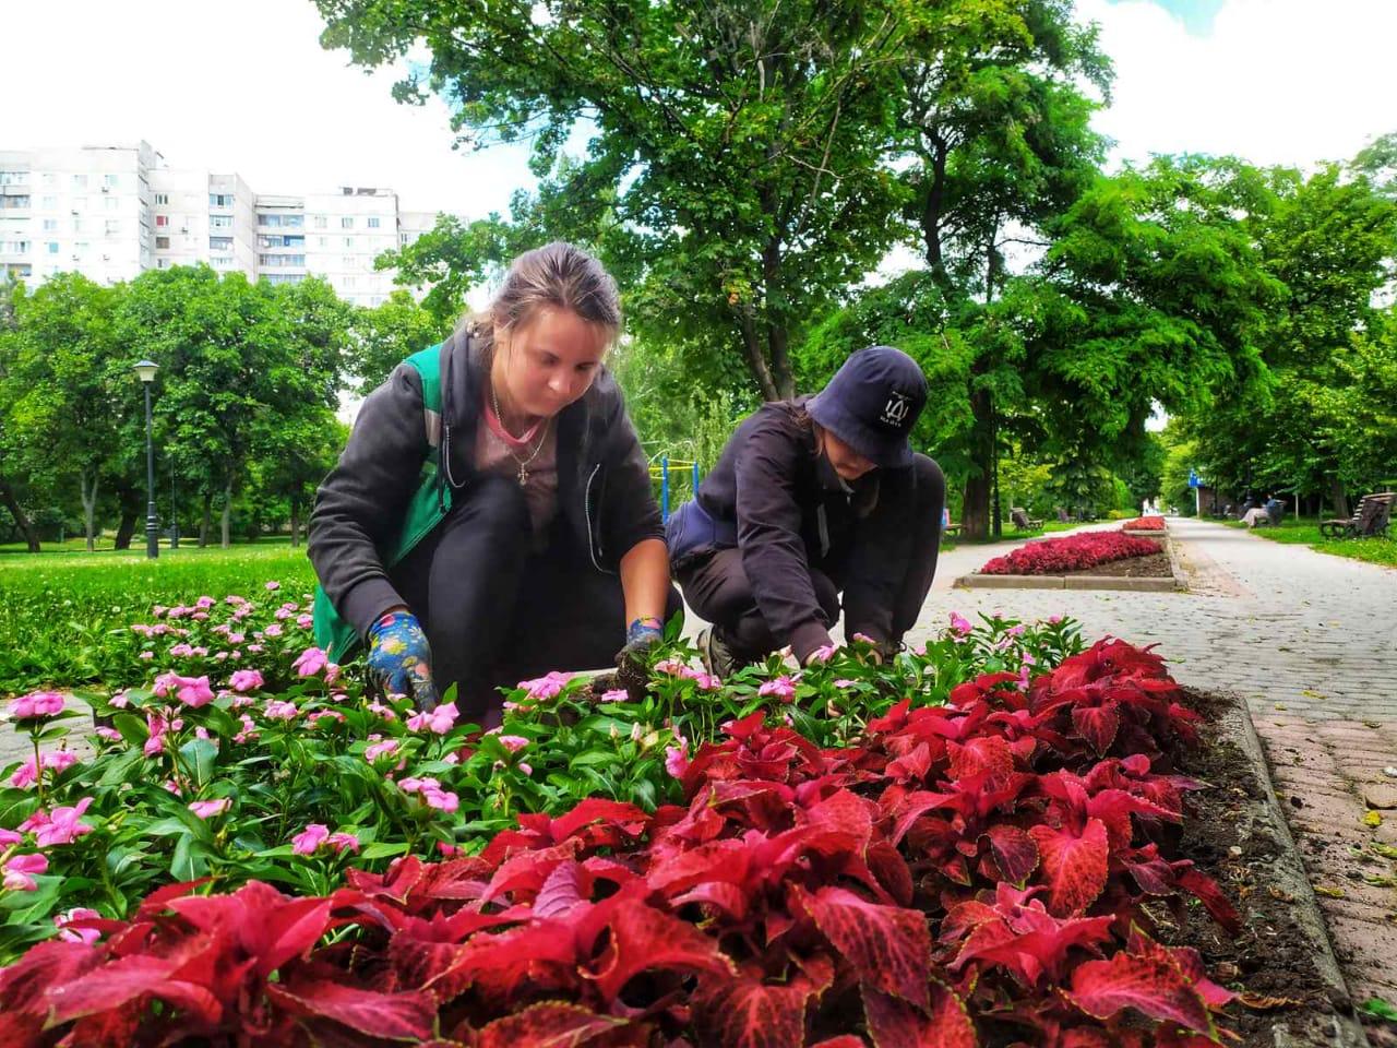
<instances>
[{"instance_id":1,"label":"green grass lawn behind the pink flowers, left of the bareheaded woman","mask_svg":"<svg viewBox=\"0 0 1397 1048\"><path fill-rule=\"evenodd\" d=\"M268 594L268 581L281 592ZM151 622L156 604L201 595L300 599L314 585L305 546L281 542L231 549L180 545L147 560L138 549L98 553L0 555L0 696L42 685L105 679L133 622Z\"/></svg>"}]
</instances>

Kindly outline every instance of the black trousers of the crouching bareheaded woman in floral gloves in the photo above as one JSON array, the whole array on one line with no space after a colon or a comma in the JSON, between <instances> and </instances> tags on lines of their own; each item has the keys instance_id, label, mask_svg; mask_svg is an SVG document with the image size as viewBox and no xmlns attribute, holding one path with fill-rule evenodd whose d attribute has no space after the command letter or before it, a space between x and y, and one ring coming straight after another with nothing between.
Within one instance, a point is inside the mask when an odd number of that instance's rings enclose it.
<instances>
[{"instance_id":1,"label":"black trousers of the crouching bareheaded woman in floral gloves","mask_svg":"<svg viewBox=\"0 0 1397 1048\"><path fill-rule=\"evenodd\" d=\"M598 572L559 516L535 552L524 493L478 476L446 520L390 572L432 644L439 692L457 685L462 720L499 722L500 686L550 669L610 665L626 644L620 576ZM665 619L683 602L669 587Z\"/></svg>"}]
</instances>

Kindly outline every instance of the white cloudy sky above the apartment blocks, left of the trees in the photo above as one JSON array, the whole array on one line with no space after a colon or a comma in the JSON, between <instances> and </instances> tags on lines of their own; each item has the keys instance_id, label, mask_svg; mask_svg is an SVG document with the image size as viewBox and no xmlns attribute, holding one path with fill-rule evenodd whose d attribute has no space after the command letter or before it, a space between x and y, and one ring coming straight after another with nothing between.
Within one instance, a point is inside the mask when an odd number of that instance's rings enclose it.
<instances>
[{"instance_id":1,"label":"white cloudy sky above the apartment blocks, left of the trees","mask_svg":"<svg viewBox=\"0 0 1397 1048\"><path fill-rule=\"evenodd\" d=\"M409 211L507 211L522 147L451 150L446 105L393 101L397 74L327 52L307 0L7 4L0 148L134 143L257 193L387 186Z\"/></svg>"}]
</instances>

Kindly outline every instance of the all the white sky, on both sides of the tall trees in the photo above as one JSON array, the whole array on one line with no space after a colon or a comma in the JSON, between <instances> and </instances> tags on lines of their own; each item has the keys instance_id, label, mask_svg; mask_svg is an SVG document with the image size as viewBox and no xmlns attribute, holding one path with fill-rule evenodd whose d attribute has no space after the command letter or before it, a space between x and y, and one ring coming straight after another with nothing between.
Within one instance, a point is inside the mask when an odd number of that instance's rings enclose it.
<instances>
[{"instance_id":1,"label":"all the white sky, on both sides of the tall trees","mask_svg":"<svg viewBox=\"0 0 1397 1048\"><path fill-rule=\"evenodd\" d=\"M1097 123L1118 158L1310 163L1397 130L1394 0L1222 0L1200 32L1164 7L1190 3L1218 0L1078 0L1116 63ZM0 7L0 148L145 138L170 166L237 170L258 193L388 186L407 210L468 218L531 184L520 148L454 152L441 103L400 106L393 73L323 50L309 0Z\"/></svg>"}]
</instances>

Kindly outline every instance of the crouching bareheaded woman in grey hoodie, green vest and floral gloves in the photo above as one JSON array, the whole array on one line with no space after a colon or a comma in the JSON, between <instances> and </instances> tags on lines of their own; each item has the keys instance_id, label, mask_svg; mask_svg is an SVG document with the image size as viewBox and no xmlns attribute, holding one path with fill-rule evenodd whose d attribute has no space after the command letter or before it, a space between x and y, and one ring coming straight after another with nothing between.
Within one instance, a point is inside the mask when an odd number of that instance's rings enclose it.
<instances>
[{"instance_id":1,"label":"crouching bareheaded woman in grey hoodie, green vest and floral gloves","mask_svg":"<svg viewBox=\"0 0 1397 1048\"><path fill-rule=\"evenodd\" d=\"M604 358L616 284L566 243L401 363L316 496L316 639L384 690L493 720L495 689L638 661L680 608L636 430ZM629 625L627 625L629 623Z\"/></svg>"}]
</instances>

